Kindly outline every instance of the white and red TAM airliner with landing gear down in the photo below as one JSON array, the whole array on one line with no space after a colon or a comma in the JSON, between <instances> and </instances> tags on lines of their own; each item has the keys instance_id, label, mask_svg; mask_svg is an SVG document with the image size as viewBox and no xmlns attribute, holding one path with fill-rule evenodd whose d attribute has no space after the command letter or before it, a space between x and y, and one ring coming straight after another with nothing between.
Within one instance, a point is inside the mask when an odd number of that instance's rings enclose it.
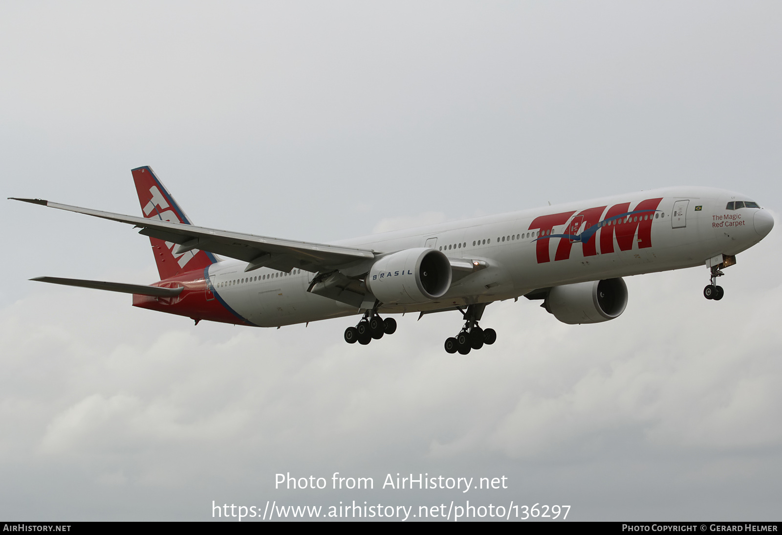
<instances>
[{"instance_id":1,"label":"white and red TAM airliner with landing gear down","mask_svg":"<svg viewBox=\"0 0 782 535\"><path fill-rule=\"evenodd\" d=\"M703 295L773 228L768 210L739 193L669 187L508 214L473 217L332 243L199 227L149 166L131 170L142 216L21 199L132 224L149 236L160 281L30 280L133 294L133 306L199 321L277 327L362 314L347 343L392 335L386 314L460 311L445 342L468 354L497 339L479 326L486 305L524 296L567 324L618 318L622 277L705 265ZM218 256L221 255L221 256ZM224 259L222 257L227 257ZM382 318L380 314L386 316Z\"/></svg>"}]
</instances>

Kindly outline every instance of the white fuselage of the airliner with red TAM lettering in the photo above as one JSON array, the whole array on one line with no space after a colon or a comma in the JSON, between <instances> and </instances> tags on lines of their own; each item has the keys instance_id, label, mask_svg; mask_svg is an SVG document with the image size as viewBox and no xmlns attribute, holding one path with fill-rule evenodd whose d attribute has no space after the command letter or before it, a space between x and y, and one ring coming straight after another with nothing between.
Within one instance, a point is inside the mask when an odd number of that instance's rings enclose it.
<instances>
[{"instance_id":1,"label":"white fuselage of the airliner with red TAM lettering","mask_svg":"<svg viewBox=\"0 0 782 535\"><path fill-rule=\"evenodd\" d=\"M639 203L648 199L660 200L654 209L637 210ZM334 243L379 253L431 247L450 258L486 262L486 269L457 280L437 300L379 309L384 313L430 311L490 303L556 285L704 265L719 254L735 255L765 234L756 232L754 223L755 214L762 209L726 210L726 204L733 200L750 199L714 188L663 188ZM623 208L625 204L628 207ZM627 213L631 215L611 221L615 214ZM558 216L554 217L556 224L535 224L552 214ZM630 221L625 222L626 217ZM632 221L633 217L641 221ZM551 217L549 221L553 221ZM557 237L578 235L590 227L593 234L587 242ZM620 229L624 229L621 239ZM545 238L547 235L552 237ZM224 260L210 266L208 274L221 302L253 325L276 327L359 312L357 307L308 293L314 273L294 269L285 274L268 268L245 272L246 265Z\"/></svg>"}]
</instances>

